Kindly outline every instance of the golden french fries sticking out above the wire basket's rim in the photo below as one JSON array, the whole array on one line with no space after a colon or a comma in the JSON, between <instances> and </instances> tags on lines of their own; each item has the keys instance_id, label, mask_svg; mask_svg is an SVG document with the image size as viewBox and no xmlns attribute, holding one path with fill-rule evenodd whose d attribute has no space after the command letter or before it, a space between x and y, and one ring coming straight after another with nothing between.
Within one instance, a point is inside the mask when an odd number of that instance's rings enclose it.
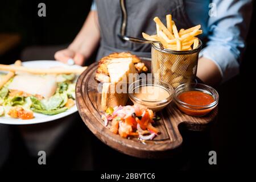
<instances>
[{"instance_id":1,"label":"golden french fries sticking out above the wire basket's rim","mask_svg":"<svg viewBox=\"0 0 256 182\"><path fill-rule=\"evenodd\" d=\"M186 30L181 28L178 31L170 14L166 15L166 26L157 16L154 18L154 22L156 23L156 35L148 35L143 32L142 36L144 39L159 41L165 49L174 51L187 51L196 49L199 46L199 40L196 36L203 34L203 31L200 30L200 24Z\"/></svg>"}]
</instances>

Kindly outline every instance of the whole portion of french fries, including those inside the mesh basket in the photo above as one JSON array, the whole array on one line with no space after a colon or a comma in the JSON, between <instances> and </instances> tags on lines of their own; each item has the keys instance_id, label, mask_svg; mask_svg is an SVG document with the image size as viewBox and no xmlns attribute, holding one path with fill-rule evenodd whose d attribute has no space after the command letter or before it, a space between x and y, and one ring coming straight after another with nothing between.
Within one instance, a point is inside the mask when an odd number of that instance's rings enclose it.
<instances>
[{"instance_id":1,"label":"whole portion of french fries, including those inside the mesh basket","mask_svg":"<svg viewBox=\"0 0 256 182\"><path fill-rule=\"evenodd\" d=\"M159 41L164 49L174 51L188 51L199 48L197 35L203 34L201 25L188 29L177 30L172 15L166 15L166 26L158 17L154 18L156 23L156 35L148 35L144 32L144 39ZM190 82L195 77L197 68L198 52L193 53L166 53L152 49L152 72L154 77L170 83L174 88L185 82Z\"/></svg>"}]
</instances>

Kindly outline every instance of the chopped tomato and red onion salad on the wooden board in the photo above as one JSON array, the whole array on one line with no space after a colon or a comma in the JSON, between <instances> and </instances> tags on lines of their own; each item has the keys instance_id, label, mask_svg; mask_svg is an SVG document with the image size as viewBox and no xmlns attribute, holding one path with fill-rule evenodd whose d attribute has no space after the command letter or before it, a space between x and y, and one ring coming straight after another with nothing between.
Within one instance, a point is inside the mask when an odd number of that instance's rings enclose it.
<instances>
[{"instance_id":1,"label":"chopped tomato and red onion salad on the wooden board","mask_svg":"<svg viewBox=\"0 0 256 182\"><path fill-rule=\"evenodd\" d=\"M152 140L159 134L159 130L152 124L160 118L156 117L152 110L139 105L109 107L101 118L104 119L105 126L111 123L112 133L123 138L133 136Z\"/></svg>"}]
</instances>

